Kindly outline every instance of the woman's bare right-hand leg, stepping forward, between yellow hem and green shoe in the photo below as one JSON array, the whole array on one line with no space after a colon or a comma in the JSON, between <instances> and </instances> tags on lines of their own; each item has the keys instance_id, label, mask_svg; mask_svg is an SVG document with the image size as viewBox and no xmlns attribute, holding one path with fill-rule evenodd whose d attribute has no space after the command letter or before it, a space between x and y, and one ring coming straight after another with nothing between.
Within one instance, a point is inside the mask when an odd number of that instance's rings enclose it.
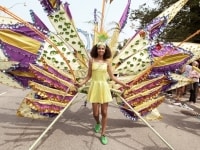
<instances>
[{"instance_id":1,"label":"woman's bare right-hand leg, stepping forward, between yellow hem and green shoe","mask_svg":"<svg viewBox=\"0 0 200 150\"><path fill-rule=\"evenodd\" d=\"M105 134L106 125L107 125L107 110L108 110L108 103L101 104L101 115L102 115L102 130L101 135Z\"/></svg>"}]
</instances>

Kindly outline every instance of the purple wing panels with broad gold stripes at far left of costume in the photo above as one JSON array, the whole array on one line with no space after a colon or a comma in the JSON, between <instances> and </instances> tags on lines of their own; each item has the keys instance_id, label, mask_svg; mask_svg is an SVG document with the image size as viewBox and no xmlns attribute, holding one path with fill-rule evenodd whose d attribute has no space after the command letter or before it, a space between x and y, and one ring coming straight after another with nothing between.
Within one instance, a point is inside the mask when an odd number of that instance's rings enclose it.
<instances>
[{"instance_id":1,"label":"purple wing panels with broad gold stripes at far left of costume","mask_svg":"<svg viewBox=\"0 0 200 150\"><path fill-rule=\"evenodd\" d=\"M18 65L7 70L5 74L26 88L28 80L34 78L28 71L29 63L36 62L44 40L20 21L13 21L14 19L8 21L8 18L6 20L8 24L2 23L0 26L1 49L8 61L15 61Z\"/></svg>"}]
</instances>

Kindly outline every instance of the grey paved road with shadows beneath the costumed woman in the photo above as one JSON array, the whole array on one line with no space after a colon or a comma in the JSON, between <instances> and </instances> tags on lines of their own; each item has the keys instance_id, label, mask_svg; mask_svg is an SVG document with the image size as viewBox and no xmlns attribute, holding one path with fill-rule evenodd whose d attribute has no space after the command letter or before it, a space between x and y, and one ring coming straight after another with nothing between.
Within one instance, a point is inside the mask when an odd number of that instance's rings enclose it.
<instances>
[{"instance_id":1,"label":"grey paved road with shadows beneath the costumed woman","mask_svg":"<svg viewBox=\"0 0 200 150\"><path fill-rule=\"evenodd\" d=\"M16 116L28 90L0 86L0 150L28 150L53 121ZM186 97L187 98L187 97ZM110 104L107 135L102 145L93 132L91 105L83 106L84 96L62 115L37 145L37 150L168 150L169 147L142 121L131 121ZM200 118L195 111L172 105L169 99L158 110L161 120L148 121L175 150L200 149Z\"/></svg>"}]
</instances>

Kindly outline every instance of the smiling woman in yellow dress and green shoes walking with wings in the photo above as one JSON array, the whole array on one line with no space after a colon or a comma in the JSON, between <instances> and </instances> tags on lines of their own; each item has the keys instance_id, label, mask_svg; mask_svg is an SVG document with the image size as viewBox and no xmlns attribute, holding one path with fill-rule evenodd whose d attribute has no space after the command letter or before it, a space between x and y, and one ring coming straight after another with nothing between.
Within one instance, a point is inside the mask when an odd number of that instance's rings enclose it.
<instances>
[{"instance_id":1,"label":"smiling woman in yellow dress and green shoes walking with wings","mask_svg":"<svg viewBox=\"0 0 200 150\"><path fill-rule=\"evenodd\" d=\"M105 136L108 102L112 101L110 87L107 83L107 73L109 74L109 77L116 83L125 88L129 88L129 86L119 81L113 75L111 64L108 60L111 58L112 54L110 48L105 43L99 42L98 44L94 45L90 55L91 59L89 60L88 74L83 82L79 84L79 86L84 85L86 82L92 79L87 98L88 101L92 103L93 116L96 121L94 131L98 133L101 130L100 140L101 143L105 145L108 143L107 137ZM101 109L101 122L99 117L99 109Z\"/></svg>"}]
</instances>

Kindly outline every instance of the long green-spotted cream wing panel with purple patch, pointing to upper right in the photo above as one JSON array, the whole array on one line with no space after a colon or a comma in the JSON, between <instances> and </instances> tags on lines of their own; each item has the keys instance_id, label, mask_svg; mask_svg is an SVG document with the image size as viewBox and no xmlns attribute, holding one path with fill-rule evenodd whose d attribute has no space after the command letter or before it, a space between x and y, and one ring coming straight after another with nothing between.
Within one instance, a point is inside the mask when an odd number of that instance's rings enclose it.
<instances>
[{"instance_id":1,"label":"long green-spotted cream wing panel with purple patch, pointing to upper right","mask_svg":"<svg viewBox=\"0 0 200 150\"><path fill-rule=\"evenodd\" d=\"M136 34L128 40L121 52L113 59L114 68L117 68L119 64L122 64L137 52L145 51L150 45L153 45L152 41L157 39L157 36L163 32L168 23L175 17L187 1L188 0L179 0L155 17L144 29L136 32ZM134 70L133 68L134 66L132 66L132 70Z\"/></svg>"}]
</instances>

